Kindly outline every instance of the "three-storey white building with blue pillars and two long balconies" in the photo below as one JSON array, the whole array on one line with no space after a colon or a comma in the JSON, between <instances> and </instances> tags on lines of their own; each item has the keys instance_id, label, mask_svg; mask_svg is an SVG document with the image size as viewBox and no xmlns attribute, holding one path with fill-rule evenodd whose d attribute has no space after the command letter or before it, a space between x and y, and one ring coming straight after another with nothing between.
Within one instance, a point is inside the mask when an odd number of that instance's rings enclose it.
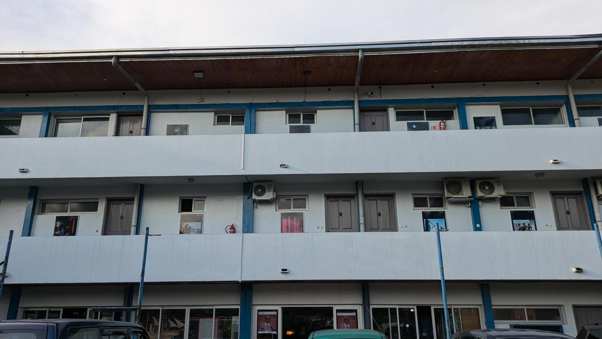
<instances>
[{"instance_id":1,"label":"three-storey white building with blue pillars and two long balconies","mask_svg":"<svg viewBox=\"0 0 602 339\"><path fill-rule=\"evenodd\" d=\"M0 53L1 318L602 321L602 36ZM133 82L132 82L133 81ZM371 133L368 133L371 132ZM546 232L549 231L549 232Z\"/></svg>"}]
</instances>

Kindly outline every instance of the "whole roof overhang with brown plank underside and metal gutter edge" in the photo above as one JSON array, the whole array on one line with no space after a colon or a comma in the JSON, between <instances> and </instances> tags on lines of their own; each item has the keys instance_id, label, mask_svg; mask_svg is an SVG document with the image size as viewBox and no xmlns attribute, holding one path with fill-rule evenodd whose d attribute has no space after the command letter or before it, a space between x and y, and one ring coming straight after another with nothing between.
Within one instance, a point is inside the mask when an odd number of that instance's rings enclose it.
<instances>
[{"instance_id":1,"label":"whole roof overhang with brown plank underside and metal gutter edge","mask_svg":"<svg viewBox=\"0 0 602 339\"><path fill-rule=\"evenodd\" d=\"M602 48L602 34L332 45L0 52L0 92L147 90L568 80ZM203 71L204 78L194 78ZM311 71L307 75L305 71ZM580 78L602 78L602 60Z\"/></svg>"}]
</instances>

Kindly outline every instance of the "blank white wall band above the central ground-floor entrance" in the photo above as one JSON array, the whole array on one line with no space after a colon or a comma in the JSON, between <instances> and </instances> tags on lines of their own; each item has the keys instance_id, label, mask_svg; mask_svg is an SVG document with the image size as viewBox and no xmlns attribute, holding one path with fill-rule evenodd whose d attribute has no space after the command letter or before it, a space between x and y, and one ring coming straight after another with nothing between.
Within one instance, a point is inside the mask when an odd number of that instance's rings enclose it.
<instances>
[{"instance_id":1,"label":"blank white wall band above the central ground-floor entrance","mask_svg":"<svg viewBox=\"0 0 602 339\"><path fill-rule=\"evenodd\" d=\"M253 284L253 305L349 305L361 303L361 284Z\"/></svg>"}]
</instances>

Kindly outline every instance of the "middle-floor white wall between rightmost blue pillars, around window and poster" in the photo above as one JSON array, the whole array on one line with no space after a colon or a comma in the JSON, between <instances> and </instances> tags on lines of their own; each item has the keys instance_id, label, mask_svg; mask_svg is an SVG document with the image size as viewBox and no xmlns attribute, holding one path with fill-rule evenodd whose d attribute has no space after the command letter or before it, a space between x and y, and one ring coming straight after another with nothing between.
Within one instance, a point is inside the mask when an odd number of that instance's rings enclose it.
<instances>
[{"instance_id":1,"label":"middle-floor white wall between rightmost blue pillars, around window and poster","mask_svg":"<svg viewBox=\"0 0 602 339\"><path fill-rule=\"evenodd\" d=\"M538 231L557 230L554 218L554 207L550 192L583 192L580 180L504 180L507 193L532 193L535 223ZM585 204L585 197L583 197ZM484 231L512 231L510 211L523 209L501 209L500 201L482 201L480 206L481 223ZM583 206L586 218L589 215L587 207ZM470 219L469 219L470 220Z\"/></svg>"}]
</instances>

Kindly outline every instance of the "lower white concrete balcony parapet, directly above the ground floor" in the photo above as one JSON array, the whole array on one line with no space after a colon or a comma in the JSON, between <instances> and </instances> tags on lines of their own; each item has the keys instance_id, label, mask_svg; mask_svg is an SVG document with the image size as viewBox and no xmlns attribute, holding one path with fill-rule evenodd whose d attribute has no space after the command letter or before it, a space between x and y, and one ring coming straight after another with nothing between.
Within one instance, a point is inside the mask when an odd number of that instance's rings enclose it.
<instances>
[{"instance_id":1,"label":"lower white concrete balcony parapet, directly above the ground floor","mask_svg":"<svg viewBox=\"0 0 602 339\"><path fill-rule=\"evenodd\" d=\"M594 231L445 232L441 241L448 280L602 280ZM1 238L1 253L6 242ZM143 242L144 236L15 237L6 282L137 282ZM153 236L146 267L147 282L438 279L433 232Z\"/></svg>"}]
</instances>

